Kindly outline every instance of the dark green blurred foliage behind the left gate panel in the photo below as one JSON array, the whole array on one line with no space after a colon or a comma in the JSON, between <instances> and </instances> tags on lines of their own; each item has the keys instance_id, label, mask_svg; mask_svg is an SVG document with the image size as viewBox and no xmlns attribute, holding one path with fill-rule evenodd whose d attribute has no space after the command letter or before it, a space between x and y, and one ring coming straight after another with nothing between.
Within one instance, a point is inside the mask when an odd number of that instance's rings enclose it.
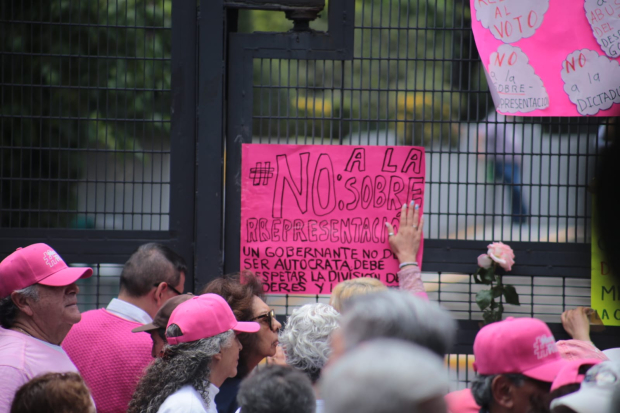
<instances>
[{"instance_id":1,"label":"dark green blurred foliage behind the left gate panel","mask_svg":"<svg viewBox=\"0 0 620 413\"><path fill-rule=\"evenodd\" d=\"M87 226L89 154L148 162L143 148L169 139L171 13L172 0L0 2L0 227Z\"/></svg>"}]
</instances>

